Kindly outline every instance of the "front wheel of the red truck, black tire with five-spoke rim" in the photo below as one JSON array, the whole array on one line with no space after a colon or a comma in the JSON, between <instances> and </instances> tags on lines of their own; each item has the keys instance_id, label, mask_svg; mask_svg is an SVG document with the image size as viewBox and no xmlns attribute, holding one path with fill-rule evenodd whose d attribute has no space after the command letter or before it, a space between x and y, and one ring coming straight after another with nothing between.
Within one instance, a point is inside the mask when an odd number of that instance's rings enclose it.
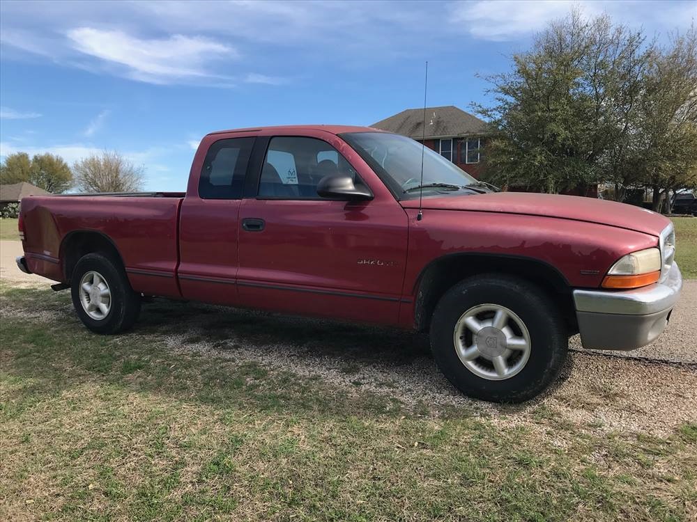
<instances>
[{"instance_id":1,"label":"front wheel of the red truck, black tire with five-spoke rim","mask_svg":"<svg viewBox=\"0 0 697 522\"><path fill-rule=\"evenodd\" d=\"M493 327L496 319L500 328ZM504 274L461 281L445 292L431 319L431 349L441 372L466 395L485 401L539 395L558 376L568 347L558 306L532 283Z\"/></svg>"}]
</instances>

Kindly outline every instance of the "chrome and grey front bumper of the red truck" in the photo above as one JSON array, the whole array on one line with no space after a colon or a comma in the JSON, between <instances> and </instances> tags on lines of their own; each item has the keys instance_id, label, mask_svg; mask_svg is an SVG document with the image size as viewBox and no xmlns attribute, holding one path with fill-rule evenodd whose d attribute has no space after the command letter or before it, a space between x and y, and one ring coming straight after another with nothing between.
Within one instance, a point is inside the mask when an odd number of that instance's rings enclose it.
<instances>
[{"instance_id":1,"label":"chrome and grey front bumper of the red truck","mask_svg":"<svg viewBox=\"0 0 697 522\"><path fill-rule=\"evenodd\" d=\"M682 290L673 262L662 283L622 292L574 290L576 319L586 349L633 350L648 345L666 328Z\"/></svg>"}]
</instances>

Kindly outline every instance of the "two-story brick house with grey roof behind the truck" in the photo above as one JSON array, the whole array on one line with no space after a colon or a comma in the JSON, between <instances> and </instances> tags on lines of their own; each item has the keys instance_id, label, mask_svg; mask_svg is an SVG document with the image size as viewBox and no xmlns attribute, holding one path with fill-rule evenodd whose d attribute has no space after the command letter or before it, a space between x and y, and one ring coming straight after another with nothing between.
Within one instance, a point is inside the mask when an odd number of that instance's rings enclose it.
<instances>
[{"instance_id":1,"label":"two-story brick house with grey roof behind the truck","mask_svg":"<svg viewBox=\"0 0 697 522\"><path fill-rule=\"evenodd\" d=\"M424 141L424 109L406 109L371 125L376 129ZM466 173L480 177L487 122L453 105L427 107L426 146Z\"/></svg>"}]
</instances>

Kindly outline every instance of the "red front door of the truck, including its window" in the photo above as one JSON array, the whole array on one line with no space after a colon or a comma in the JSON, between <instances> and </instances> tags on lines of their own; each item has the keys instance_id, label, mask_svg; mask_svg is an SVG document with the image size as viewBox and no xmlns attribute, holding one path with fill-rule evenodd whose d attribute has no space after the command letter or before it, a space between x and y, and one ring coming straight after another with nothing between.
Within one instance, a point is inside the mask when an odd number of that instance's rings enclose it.
<instances>
[{"instance_id":1,"label":"red front door of the truck, including its window","mask_svg":"<svg viewBox=\"0 0 697 522\"><path fill-rule=\"evenodd\" d=\"M384 187L369 201L318 196L317 182L328 174L349 173L366 184L323 139L273 136L263 157L254 193L240 207L240 304L396 324L404 209Z\"/></svg>"}]
</instances>

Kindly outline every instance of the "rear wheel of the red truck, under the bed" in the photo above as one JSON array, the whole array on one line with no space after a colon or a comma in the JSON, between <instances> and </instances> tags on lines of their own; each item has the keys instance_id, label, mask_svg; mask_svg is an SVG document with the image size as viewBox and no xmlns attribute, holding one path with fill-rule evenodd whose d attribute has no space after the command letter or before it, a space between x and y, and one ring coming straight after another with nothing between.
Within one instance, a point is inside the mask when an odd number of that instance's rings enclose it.
<instances>
[{"instance_id":1,"label":"rear wheel of the red truck, under the bed","mask_svg":"<svg viewBox=\"0 0 697 522\"><path fill-rule=\"evenodd\" d=\"M78 317L95 333L128 330L140 315L140 295L131 288L121 263L102 254L80 258L72 271L70 292Z\"/></svg>"}]
</instances>

